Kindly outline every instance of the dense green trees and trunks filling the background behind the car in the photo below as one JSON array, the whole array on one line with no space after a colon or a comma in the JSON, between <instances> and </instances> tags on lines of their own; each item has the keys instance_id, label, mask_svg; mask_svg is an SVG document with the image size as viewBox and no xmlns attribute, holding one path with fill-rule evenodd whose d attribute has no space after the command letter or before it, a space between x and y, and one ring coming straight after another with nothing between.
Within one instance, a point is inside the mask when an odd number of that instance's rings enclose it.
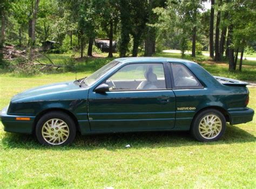
<instances>
[{"instance_id":1,"label":"dense green trees and trunks filling the background behind the car","mask_svg":"<svg viewBox=\"0 0 256 189\"><path fill-rule=\"evenodd\" d=\"M245 49L256 48L255 6L253 0L2 0L0 57L4 43L40 50L49 41L54 52L79 51L83 57L87 48L92 56L94 40L105 38L109 57L114 41L120 57L143 50L152 56L165 48L182 55L190 50L195 57L210 50L215 61L226 52L233 71L241 52L241 70Z\"/></svg>"}]
</instances>

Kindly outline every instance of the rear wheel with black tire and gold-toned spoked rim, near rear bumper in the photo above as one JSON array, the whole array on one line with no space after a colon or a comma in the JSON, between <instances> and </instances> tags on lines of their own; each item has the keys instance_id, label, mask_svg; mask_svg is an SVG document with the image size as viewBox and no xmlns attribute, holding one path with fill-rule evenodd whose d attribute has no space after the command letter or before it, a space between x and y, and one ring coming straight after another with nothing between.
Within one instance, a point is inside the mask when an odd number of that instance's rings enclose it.
<instances>
[{"instance_id":1,"label":"rear wheel with black tire and gold-toned spoked rim, near rear bumper","mask_svg":"<svg viewBox=\"0 0 256 189\"><path fill-rule=\"evenodd\" d=\"M226 130L224 115L215 109L200 112L194 118L191 126L191 134L198 141L216 141L223 136Z\"/></svg>"}]
</instances>

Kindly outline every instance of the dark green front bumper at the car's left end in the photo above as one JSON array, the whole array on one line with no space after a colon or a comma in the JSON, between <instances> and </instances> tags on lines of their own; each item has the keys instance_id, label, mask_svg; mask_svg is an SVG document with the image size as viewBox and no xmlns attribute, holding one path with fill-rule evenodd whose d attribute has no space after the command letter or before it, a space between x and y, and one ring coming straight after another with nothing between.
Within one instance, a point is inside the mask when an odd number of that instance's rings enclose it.
<instances>
[{"instance_id":1,"label":"dark green front bumper at the car's left end","mask_svg":"<svg viewBox=\"0 0 256 189\"><path fill-rule=\"evenodd\" d=\"M35 116L9 115L7 114L7 110L8 107L5 107L2 111L0 111L0 120L4 125L4 131L28 134L32 133ZM16 120L17 117L29 117L30 120Z\"/></svg>"}]
</instances>

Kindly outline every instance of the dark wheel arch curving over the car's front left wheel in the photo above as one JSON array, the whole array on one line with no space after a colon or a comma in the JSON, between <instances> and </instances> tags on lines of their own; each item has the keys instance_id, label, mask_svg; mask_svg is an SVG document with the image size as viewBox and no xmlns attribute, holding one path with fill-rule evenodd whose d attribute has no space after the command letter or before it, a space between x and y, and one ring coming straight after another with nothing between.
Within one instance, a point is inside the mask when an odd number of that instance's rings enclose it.
<instances>
[{"instance_id":1,"label":"dark wheel arch curving over the car's front left wheel","mask_svg":"<svg viewBox=\"0 0 256 189\"><path fill-rule=\"evenodd\" d=\"M41 112L39 112L33 122L33 129L32 129L32 133L35 133L35 130L36 130L36 124L38 122L38 120L45 114L45 113L49 113L49 112L52 112L52 111L58 111L58 112L63 112L63 113L66 113L68 114L72 119L73 121L75 122L75 125L76 125L76 129L77 131L80 132L80 127L79 127L79 123L78 123L78 120L76 118L76 116L70 112L69 110L66 110L66 109L62 109L62 108L51 108L51 109L46 109L46 110L43 110Z\"/></svg>"}]
</instances>

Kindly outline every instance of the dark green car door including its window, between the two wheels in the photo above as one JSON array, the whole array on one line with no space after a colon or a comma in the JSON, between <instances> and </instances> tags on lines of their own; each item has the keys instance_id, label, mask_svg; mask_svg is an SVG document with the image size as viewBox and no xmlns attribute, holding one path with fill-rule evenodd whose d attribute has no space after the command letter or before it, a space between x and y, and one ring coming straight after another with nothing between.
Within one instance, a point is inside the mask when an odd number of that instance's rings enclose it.
<instances>
[{"instance_id":1,"label":"dark green car door including its window, between the two wheels","mask_svg":"<svg viewBox=\"0 0 256 189\"><path fill-rule=\"evenodd\" d=\"M165 69L164 69L165 68ZM110 90L89 92L92 132L170 130L176 101L167 63L123 65L104 79Z\"/></svg>"}]
</instances>

